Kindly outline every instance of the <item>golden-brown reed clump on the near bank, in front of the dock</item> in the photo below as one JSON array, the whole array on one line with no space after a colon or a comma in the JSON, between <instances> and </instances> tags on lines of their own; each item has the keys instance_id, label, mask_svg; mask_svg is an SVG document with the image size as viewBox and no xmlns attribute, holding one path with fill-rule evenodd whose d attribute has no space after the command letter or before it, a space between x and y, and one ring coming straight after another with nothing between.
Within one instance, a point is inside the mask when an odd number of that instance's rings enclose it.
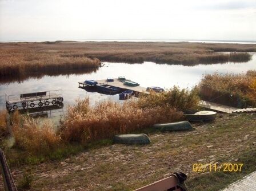
<instances>
[{"instance_id":1,"label":"golden-brown reed clump on the near bank, in front of the dock","mask_svg":"<svg viewBox=\"0 0 256 191\"><path fill-rule=\"evenodd\" d=\"M89 99L78 100L69 107L60 134L65 142L82 142L111 138L115 134L129 133L151 127L155 123L172 122L181 119L182 114L171 107L141 109L136 101L115 103L103 101L94 107Z\"/></svg>"}]
</instances>

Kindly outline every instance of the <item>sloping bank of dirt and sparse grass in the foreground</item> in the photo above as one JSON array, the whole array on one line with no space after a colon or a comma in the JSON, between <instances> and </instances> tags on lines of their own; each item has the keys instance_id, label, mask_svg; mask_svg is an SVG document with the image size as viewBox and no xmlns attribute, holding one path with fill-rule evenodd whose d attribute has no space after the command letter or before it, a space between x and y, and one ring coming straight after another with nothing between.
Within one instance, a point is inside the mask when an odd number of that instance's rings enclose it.
<instances>
[{"instance_id":1,"label":"sloping bank of dirt and sparse grass in the foreground","mask_svg":"<svg viewBox=\"0 0 256 191\"><path fill-rule=\"evenodd\" d=\"M31 174L30 190L133 190L179 171L193 178L194 163L235 162L240 152L256 149L255 119L219 115L193 124L194 131L152 133L149 145L115 144L11 171L15 182Z\"/></svg>"}]
</instances>

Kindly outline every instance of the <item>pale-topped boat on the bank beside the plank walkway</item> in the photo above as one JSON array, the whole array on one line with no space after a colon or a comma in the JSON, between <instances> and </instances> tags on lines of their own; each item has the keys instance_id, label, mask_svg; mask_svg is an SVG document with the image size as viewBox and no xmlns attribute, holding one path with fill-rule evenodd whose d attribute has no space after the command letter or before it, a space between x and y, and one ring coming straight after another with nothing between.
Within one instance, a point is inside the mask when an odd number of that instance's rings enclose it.
<instances>
[{"instance_id":1,"label":"pale-topped boat on the bank beside the plank walkway","mask_svg":"<svg viewBox=\"0 0 256 191\"><path fill-rule=\"evenodd\" d=\"M214 111L199 111L195 113L184 113L187 121L212 121L216 118L217 113Z\"/></svg>"}]
</instances>

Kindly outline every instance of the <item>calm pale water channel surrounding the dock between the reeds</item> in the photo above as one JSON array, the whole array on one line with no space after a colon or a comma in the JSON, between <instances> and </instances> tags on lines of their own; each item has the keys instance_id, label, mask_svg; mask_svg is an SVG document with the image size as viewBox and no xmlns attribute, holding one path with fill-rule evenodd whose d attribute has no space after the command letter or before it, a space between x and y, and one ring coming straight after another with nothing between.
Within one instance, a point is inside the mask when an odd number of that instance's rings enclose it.
<instances>
[{"instance_id":1,"label":"calm pale water channel surrounding the dock between the reeds","mask_svg":"<svg viewBox=\"0 0 256 191\"><path fill-rule=\"evenodd\" d=\"M170 88L176 85L182 88L191 88L199 83L203 74L213 74L214 72L239 74L248 70L256 70L256 54L253 54L253 59L247 63L199 64L196 66L155 64L152 62L143 64L105 62L104 67L90 74L43 76L41 79L30 78L20 83L2 83L0 85L0 109L5 109L5 92L11 95L63 90L64 112L67 106L74 104L78 98L89 97L90 104L107 99L119 101L118 95L103 95L97 92L86 92L78 88L78 82L82 82L85 79L97 80L125 76L127 79L138 82L142 87L159 86Z\"/></svg>"}]
</instances>

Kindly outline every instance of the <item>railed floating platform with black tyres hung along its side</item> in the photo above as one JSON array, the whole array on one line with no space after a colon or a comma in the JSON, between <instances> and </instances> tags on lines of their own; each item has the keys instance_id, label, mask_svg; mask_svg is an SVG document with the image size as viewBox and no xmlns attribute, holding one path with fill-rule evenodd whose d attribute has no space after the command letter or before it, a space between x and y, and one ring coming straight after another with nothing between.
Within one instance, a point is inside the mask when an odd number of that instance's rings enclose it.
<instances>
[{"instance_id":1,"label":"railed floating platform with black tyres hung along its side","mask_svg":"<svg viewBox=\"0 0 256 191\"><path fill-rule=\"evenodd\" d=\"M29 109L34 107L46 107L48 105L61 104L63 101L62 90L33 92L26 94L9 95L5 93L6 109Z\"/></svg>"}]
</instances>

